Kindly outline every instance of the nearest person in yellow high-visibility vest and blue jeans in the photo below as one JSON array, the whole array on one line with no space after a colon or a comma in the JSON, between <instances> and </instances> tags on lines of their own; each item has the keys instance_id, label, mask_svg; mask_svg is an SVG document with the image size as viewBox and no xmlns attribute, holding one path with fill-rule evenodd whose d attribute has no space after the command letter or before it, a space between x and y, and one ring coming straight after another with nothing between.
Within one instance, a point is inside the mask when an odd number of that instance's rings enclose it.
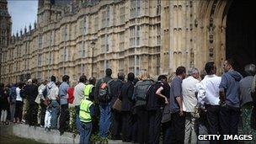
<instances>
[{"instance_id":1,"label":"nearest person in yellow high-visibility vest and blue jeans","mask_svg":"<svg viewBox=\"0 0 256 144\"><path fill-rule=\"evenodd\" d=\"M80 133L81 144L88 144L90 136L93 129L92 117L94 115L93 102L86 97L84 97L80 104L79 110L79 120L82 126L82 131Z\"/></svg>"}]
</instances>

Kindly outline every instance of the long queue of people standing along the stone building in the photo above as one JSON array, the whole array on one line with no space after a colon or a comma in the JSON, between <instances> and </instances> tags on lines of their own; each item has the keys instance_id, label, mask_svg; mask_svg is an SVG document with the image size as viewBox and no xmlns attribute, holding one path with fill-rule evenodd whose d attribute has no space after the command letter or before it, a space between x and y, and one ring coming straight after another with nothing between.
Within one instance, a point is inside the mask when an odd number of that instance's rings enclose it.
<instances>
[{"instance_id":1,"label":"long queue of people standing along the stone building","mask_svg":"<svg viewBox=\"0 0 256 144\"><path fill-rule=\"evenodd\" d=\"M146 71L139 77L130 72L126 80L118 72L113 79L107 68L98 81L83 75L79 82L70 83L64 75L61 83L55 76L40 84L35 78L12 86L1 83L1 122L40 125L62 135L73 119L80 143L89 143L92 133L141 144L160 139L163 143L218 143L199 141L197 136L236 135L242 117L243 134L256 136L255 65L244 67L245 77L234 66L232 59L226 60L221 77L216 76L215 63L207 62L201 72L178 67L171 77L160 75L157 81Z\"/></svg>"}]
</instances>

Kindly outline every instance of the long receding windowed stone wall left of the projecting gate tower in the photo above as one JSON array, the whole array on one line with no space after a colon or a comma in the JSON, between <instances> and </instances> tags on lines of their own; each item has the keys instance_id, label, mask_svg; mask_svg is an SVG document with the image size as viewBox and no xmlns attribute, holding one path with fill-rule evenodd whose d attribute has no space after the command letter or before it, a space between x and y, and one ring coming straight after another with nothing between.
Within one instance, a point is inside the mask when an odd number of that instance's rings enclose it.
<instances>
[{"instance_id":1,"label":"long receding windowed stone wall left of the projecting gate tower","mask_svg":"<svg viewBox=\"0 0 256 144\"><path fill-rule=\"evenodd\" d=\"M53 74L59 80L64 74L73 80L92 73L103 77L107 67L114 77L117 72L138 75L141 70L156 76L160 74L160 4L160 0L77 3L77 12L71 13L72 6L69 11L46 1L38 10L36 29L12 36L1 81L15 83L27 74L39 79Z\"/></svg>"}]
</instances>

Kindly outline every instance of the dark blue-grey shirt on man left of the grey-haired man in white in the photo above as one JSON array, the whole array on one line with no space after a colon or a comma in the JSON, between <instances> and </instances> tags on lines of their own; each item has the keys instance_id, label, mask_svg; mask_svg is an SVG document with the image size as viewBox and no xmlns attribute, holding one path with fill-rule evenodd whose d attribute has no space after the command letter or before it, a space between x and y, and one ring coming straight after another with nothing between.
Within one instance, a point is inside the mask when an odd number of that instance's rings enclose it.
<instances>
[{"instance_id":1,"label":"dark blue-grey shirt on man left of the grey-haired man in white","mask_svg":"<svg viewBox=\"0 0 256 144\"><path fill-rule=\"evenodd\" d=\"M171 113L176 113L179 111L179 104L176 100L177 97L181 97L182 99L182 88L181 88L182 79L179 77L174 77L171 83L170 88L170 106Z\"/></svg>"}]
</instances>

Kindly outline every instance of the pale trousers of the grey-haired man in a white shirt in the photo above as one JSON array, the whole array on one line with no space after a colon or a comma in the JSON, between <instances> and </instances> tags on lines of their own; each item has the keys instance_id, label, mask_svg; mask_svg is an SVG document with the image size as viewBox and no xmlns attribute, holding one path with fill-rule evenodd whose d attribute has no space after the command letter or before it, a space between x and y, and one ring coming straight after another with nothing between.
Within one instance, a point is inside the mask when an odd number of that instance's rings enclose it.
<instances>
[{"instance_id":1,"label":"pale trousers of the grey-haired man in a white shirt","mask_svg":"<svg viewBox=\"0 0 256 144\"><path fill-rule=\"evenodd\" d=\"M195 133L195 117L191 113L186 113L185 121L185 140L184 143L196 143L197 136Z\"/></svg>"}]
</instances>

